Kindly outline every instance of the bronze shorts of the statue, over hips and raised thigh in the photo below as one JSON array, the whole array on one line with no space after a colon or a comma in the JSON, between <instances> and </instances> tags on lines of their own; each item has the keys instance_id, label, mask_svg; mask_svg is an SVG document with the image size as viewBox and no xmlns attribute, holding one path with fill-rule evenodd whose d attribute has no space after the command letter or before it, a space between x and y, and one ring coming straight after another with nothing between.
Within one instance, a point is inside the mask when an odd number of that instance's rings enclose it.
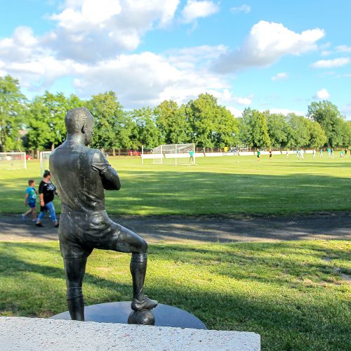
<instances>
[{"instance_id":1,"label":"bronze shorts of the statue, over hips and raised thigh","mask_svg":"<svg viewBox=\"0 0 351 351\"><path fill-rule=\"evenodd\" d=\"M106 211L64 211L58 228L63 258L88 257L93 249L143 253L146 241L121 225L114 223Z\"/></svg>"}]
</instances>

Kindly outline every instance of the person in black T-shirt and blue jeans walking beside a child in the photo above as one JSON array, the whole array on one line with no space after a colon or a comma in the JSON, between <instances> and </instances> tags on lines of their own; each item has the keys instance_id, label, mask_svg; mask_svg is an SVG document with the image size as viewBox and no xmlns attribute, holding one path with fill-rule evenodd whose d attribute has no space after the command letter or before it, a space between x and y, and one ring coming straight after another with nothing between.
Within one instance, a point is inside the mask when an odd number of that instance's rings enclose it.
<instances>
[{"instance_id":1,"label":"person in black T-shirt and blue jeans walking beside a child","mask_svg":"<svg viewBox=\"0 0 351 351\"><path fill-rule=\"evenodd\" d=\"M37 219L37 227L44 227L41 220L45 213L50 213L51 220L55 227L58 227L58 220L56 218L55 206L53 206L53 198L55 196L56 187L51 183L51 173L47 169L44 171L43 179L39 184L39 198L40 198L40 213Z\"/></svg>"}]
</instances>

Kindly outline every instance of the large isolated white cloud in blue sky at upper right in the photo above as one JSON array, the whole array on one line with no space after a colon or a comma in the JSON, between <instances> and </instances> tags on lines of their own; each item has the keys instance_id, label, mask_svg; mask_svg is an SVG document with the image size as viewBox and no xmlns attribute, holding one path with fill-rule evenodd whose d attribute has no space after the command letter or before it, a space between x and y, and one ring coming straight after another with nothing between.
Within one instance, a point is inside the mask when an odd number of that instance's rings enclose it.
<instances>
[{"instance_id":1,"label":"large isolated white cloud in blue sky at upper right","mask_svg":"<svg viewBox=\"0 0 351 351\"><path fill-rule=\"evenodd\" d=\"M268 67L283 55L300 55L317 49L323 29L308 29L300 34L281 23L260 21L253 25L240 48L220 56L213 69L220 73L247 67Z\"/></svg>"}]
</instances>

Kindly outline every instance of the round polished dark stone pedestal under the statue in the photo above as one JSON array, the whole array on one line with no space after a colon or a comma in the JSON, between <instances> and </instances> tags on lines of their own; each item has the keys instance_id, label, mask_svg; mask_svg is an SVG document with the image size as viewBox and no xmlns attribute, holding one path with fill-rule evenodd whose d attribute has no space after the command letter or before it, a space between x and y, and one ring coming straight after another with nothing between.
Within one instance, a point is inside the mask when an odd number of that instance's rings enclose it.
<instances>
[{"instance_id":1,"label":"round polished dark stone pedestal under the statue","mask_svg":"<svg viewBox=\"0 0 351 351\"><path fill-rule=\"evenodd\" d=\"M127 324L128 315L132 312L131 302L100 303L99 305L85 306L85 320L89 322L123 323ZM207 329L205 324L193 314L180 308L159 303L152 312L155 317L155 326L178 326L180 328ZM62 312L51 317L53 319L71 319L69 312Z\"/></svg>"}]
</instances>

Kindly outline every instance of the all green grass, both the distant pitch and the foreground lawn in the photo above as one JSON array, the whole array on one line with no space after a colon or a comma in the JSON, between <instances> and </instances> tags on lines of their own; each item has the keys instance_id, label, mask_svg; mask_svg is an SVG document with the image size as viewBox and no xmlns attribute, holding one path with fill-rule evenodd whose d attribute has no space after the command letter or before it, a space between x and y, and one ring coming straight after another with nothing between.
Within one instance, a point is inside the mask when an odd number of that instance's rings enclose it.
<instances>
[{"instance_id":1,"label":"all green grass, both the distant pitch and the foreground lawn","mask_svg":"<svg viewBox=\"0 0 351 351\"><path fill-rule=\"evenodd\" d=\"M351 157L198 158L197 166L116 157L122 188L107 192L114 214L289 214L351 211ZM27 170L0 169L0 212L21 213ZM59 209L59 201L55 200ZM260 333L264 350L347 350L350 241L150 245L146 291L208 329ZM86 305L131 299L129 255L94 251ZM343 275L344 274L344 275ZM347 275L346 275L347 274ZM67 310L58 242L0 242L0 315L50 317Z\"/></svg>"}]
</instances>

